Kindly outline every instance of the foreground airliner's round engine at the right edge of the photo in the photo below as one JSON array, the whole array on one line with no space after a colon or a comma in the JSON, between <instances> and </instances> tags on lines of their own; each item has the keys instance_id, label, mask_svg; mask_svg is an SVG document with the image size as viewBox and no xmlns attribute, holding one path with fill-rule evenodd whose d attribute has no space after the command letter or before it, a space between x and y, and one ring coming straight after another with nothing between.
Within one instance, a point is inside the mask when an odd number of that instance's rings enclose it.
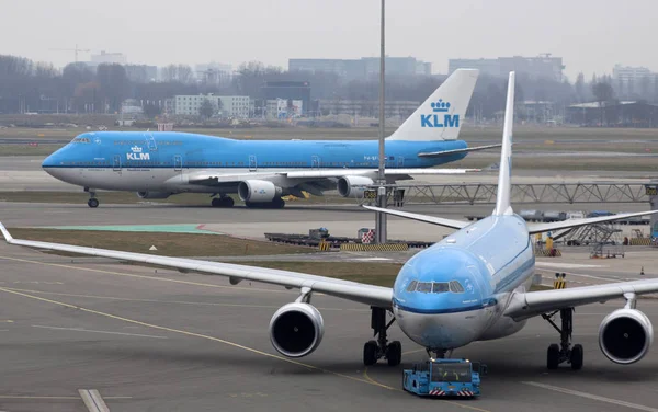
<instances>
[{"instance_id":1,"label":"foreground airliner's round engine at the right edge of the photo","mask_svg":"<svg viewBox=\"0 0 658 412\"><path fill-rule=\"evenodd\" d=\"M610 360L628 365L642 359L654 342L654 327L637 309L617 309L599 328L599 346Z\"/></svg>"}]
</instances>

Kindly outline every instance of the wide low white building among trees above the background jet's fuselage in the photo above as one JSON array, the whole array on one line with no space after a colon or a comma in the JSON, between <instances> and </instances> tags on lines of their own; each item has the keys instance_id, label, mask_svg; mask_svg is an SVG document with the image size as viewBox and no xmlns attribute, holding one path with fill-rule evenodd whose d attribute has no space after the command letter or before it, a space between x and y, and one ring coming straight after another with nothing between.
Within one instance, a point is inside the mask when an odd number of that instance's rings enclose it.
<instances>
[{"instance_id":1,"label":"wide low white building among trees above the background jet's fuselage","mask_svg":"<svg viewBox=\"0 0 658 412\"><path fill-rule=\"evenodd\" d=\"M173 98L173 113L196 116L206 100L213 104L215 113L222 114L223 117L248 118L252 112L251 100L246 95L191 94Z\"/></svg>"}]
</instances>

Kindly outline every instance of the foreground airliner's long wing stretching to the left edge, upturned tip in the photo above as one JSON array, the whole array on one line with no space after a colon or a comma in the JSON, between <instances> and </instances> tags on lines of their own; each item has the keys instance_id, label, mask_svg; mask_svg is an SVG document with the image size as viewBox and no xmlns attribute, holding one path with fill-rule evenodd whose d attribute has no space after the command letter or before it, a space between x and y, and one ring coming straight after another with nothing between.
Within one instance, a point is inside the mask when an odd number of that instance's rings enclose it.
<instances>
[{"instance_id":1,"label":"foreground airliner's long wing stretching to the left edge, upturned tip","mask_svg":"<svg viewBox=\"0 0 658 412\"><path fill-rule=\"evenodd\" d=\"M388 287L360 284L356 282L316 276L306 273L201 261L194 259L156 256L144 253L121 252L115 250L76 247L61 243L21 240L12 238L2 224L0 224L0 231L2 231L4 239L10 244L79 253L90 256L110 258L136 263L146 263L190 272L211 273L214 275L228 277L231 284L236 284L240 281L253 281L280 285L286 288L309 288L311 291L322 293L326 295L382 308L390 308L393 299L393 289Z\"/></svg>"}]
</instances>

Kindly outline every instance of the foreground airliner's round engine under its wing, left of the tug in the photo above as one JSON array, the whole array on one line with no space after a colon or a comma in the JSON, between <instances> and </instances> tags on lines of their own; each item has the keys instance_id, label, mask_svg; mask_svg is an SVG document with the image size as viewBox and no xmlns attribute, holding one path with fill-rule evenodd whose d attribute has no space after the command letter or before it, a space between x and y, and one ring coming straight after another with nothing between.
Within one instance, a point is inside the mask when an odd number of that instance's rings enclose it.
<instances>
[{"instance_id":1,"label":"foreground airliner's round engine under its wing, left of the tug","mask_svg":"<svg viewBox=\"0 0 658 412\"><path fill-rule=\"evenodd\" d=\"M287 357L302 357L315 351L322 341L325 321L311 305L293 302L281 307L270 321L270 341Z\"/></svg>"}]
</instances>

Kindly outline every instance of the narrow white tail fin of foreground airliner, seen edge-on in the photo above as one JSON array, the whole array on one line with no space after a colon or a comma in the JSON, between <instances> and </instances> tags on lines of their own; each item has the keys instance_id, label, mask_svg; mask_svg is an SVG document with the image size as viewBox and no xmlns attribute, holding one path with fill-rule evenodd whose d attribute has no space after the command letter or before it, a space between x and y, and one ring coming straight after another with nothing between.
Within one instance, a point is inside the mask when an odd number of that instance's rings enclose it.
<instances>
[{"instance_id":1,"label":"narrow white tail fin of foreground airliner, seen edge-on","mask_svg":"<svg viewBox=\"0 0 658 412\"><path fill-rule=\"evenodd\" d=\"M500 170L498 172L498 194L494 215L513 214L512 194L512 126L514 123L514 72L510 71L508 95L504 106L504 125L502 127L502 149L500 151Z\"/></svg>"}]
</instances>

